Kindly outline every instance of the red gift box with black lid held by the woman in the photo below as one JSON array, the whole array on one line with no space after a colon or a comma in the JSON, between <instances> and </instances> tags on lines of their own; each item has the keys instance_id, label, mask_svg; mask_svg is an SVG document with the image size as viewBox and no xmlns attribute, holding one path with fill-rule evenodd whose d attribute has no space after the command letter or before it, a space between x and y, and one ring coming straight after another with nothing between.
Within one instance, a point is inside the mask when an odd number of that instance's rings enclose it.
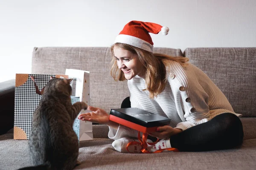
<instances>
[{"instance_id":1,"label":"red gift box with black lid held by the woman","mask_svg":"<svg viewBox=\"0 0 256 170\"><path fill-rule=\"evenodd\" d=\"M110 120L143 133L153 132L159 126L170 124L169 118L139 108L111 109Z\"/></svg>"}]
</instances>

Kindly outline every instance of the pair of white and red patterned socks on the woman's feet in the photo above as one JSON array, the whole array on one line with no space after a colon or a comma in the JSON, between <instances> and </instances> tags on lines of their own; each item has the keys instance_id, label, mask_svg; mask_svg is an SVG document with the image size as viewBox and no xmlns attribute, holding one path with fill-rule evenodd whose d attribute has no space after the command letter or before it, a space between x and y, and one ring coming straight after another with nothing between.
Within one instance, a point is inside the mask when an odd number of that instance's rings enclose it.
<instances>
[{"instance_id":1,"label":"pair of white and red patterned socks on the woman's feet","mask_svg":"<svg viewBox=\"0 0 256 170\"><path fill-rule=\"evenodd\" d=\"M116 151L122 152L122 153L142 153L140 151L142 147L140 143L137 143L137 142L135 142L135 144L131 144L130 146L128 146L128 150L129 150L128 151L126 147L129 142L134 142L134 140L130 138L121 138L121 139L115 140L112 143L112 146L115 148ZM148 139L147 142L151 142L151 141ZM148 144L147 150L149 152L154 152L156 150L165 149L165 148L171 148L170 139L161 139L154 145Z\"/></svg>"}]
</instances>

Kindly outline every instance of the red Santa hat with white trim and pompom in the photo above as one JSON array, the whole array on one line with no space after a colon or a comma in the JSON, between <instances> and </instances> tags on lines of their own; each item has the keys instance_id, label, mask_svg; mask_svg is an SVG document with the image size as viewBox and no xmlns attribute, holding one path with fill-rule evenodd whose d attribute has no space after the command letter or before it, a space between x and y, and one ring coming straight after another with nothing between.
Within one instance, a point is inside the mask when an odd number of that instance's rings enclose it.
<instances>
[{"instance_id":1,"label":"red Santa hat with white trim and pompom","mask_svg":"<svg viewBox=\"0 0 256 170\"><path fill-rule=\"evenodd\" d=\"M160 31L163 35L167 35L169 28L156 23L131 21L124 26L123 30L116 37L115 43L121 42L153 52L154 43L149 33L158 34Z\"/></svg>"}]
</instances>

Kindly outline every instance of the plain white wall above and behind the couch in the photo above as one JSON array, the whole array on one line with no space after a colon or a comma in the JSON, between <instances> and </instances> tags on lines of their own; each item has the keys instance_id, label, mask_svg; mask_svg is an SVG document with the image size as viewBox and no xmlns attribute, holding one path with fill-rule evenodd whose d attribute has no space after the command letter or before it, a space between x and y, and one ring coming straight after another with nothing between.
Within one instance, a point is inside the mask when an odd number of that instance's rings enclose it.
<instances>
[{"instance_id":1,"label":"plain white wall above and behind the couch","mask_svg":"<svg viewBox=\"0 0 256 170\"><path fill-rule=\"evenodd\" d=\"M256 47L256 0L0 0L0 82L35 46L111 46L131 20L170 28L155 47Z\"/></svg>"}]
</instances>

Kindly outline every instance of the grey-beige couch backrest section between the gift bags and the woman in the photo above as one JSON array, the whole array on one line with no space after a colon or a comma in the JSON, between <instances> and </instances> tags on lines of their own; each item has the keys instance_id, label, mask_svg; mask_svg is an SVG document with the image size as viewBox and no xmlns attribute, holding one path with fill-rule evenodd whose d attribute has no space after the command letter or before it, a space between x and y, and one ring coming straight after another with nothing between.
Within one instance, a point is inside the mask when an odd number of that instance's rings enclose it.
<instances>
[{"instance_id":1,"label":"grey-beige couch backrest section between the gift bags and the woman","mask_svg":"<svg viewBox=\"0 0 256 170\"><path fill-rule=\"evenodd\" d=\"M180 49L154 48L155 53L182 56ZM105 109L120 108L129 96L127 81L115 82L110 75L111 50L104 47L34 48L32 74L65 74L66 68L90 71L91 105Z\"/></svg>"}]
</instances>

